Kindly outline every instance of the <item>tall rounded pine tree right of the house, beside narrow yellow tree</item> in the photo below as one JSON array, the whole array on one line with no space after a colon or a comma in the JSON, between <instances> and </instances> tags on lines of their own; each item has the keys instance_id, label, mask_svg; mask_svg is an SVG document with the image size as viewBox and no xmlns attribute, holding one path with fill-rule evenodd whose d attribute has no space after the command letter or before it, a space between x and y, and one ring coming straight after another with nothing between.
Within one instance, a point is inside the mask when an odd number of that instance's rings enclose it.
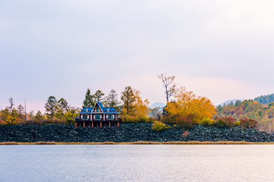
<instances>
[{"instance_id":1,"label":"tall rounded pine tree right of the house, beside narrow yellow tree","mask_svg":"<svg viewBox=\"0 0 274 182\"><path fill-rule=\"evenodd\" d=\"M127 115L131 115L132 113L134 113L135 97L133 94L133 90L130 86L125 87L125 90L122 92L121 100L123 102L123 113L126 113Z\"/></svg>"}]
</instances>

